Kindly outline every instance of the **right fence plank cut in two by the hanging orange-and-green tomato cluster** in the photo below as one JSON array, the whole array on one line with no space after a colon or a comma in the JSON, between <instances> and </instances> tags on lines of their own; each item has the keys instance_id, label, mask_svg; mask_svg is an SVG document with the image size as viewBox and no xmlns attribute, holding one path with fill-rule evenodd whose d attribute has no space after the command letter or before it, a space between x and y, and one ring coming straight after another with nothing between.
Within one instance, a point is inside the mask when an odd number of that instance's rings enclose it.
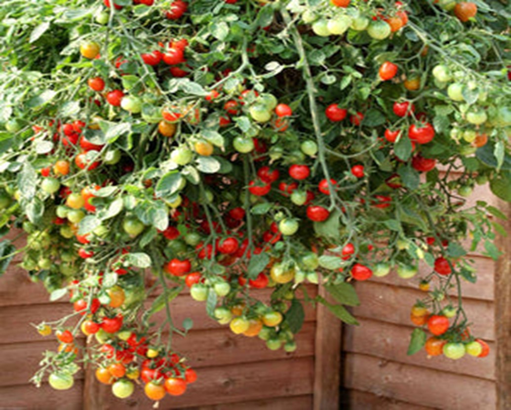
<instances>
[{"instance_id":1,"label":"right fence plank cut in two by the hanging orange-and-green tomato cluster","mask_svg":"<svg viewBox=\"0 0 511 410\"><path fill-rule=\"evenodd\" d=\"M410 323L411 307L417 300L424 298L420 290L376 282L358 283L356 287L361 300L361 305L353 308L357 317L378 318L398 325ZM463 307L471 323L471 333L485 340L495 340L493 303L466 299Z\"/></svg>"}]
</instances>

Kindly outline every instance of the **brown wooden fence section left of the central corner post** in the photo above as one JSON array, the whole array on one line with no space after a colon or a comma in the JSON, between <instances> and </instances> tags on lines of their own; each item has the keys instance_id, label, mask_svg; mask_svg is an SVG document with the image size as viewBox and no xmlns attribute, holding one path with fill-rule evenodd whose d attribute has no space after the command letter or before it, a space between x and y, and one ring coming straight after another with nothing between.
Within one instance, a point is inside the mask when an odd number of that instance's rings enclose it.
<instances>
[{"instance_id":1,"label":"brown wooden fence section left of the central corner post","mask_svg":"<svg viewBox=\"0 0 511 410\"><path fill-rule=\"evenodd\" d=\"M309 291L315 294L317 290L311 287ZM90 377L85 382L85 372L78 374L74 388L66 392L54 391L48 384L37 389L29 383L42 352L57 347L53 336L40 336L30 323L55 320L71 309L66 302L50 303L42 285L32 283L20 268L11 267L0 279L0 410L74 410L85 408L87 401L92 401L89 408L94 410L151 408L152 403L140 394L142 389L128 400L118 400L109 386L98 386ZM270 351L258 338L231 333L208 318L204 304L187 294L173 302L173 316L175 323L185 317L194 322L188 337L174 337L176 350L189 357L198 380L183 396L162 400L159 408L313 407L316 312L310 307L297 336L298 349L292 354Z\"/></svg>"}]
</instances>

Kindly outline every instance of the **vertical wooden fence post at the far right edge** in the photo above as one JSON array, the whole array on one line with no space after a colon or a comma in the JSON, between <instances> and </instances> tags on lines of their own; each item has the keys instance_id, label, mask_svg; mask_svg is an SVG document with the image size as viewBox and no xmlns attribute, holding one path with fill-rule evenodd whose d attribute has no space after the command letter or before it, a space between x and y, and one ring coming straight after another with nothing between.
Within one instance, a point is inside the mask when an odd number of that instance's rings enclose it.
<instances>
[{"instance_id":1,"label":"vertical wooden fence post at the far right edge","mask_svg":"<svg viewBox=\"0 0 511 410\"><path fill-rule=\"evenodd\" d=\"M503 223L508 237L497 238L503 255L495 269L495 372L497 410L508 410L511 406L511 203L500 201L499 208L509 219Z\"/></svg>"}]
</instances>

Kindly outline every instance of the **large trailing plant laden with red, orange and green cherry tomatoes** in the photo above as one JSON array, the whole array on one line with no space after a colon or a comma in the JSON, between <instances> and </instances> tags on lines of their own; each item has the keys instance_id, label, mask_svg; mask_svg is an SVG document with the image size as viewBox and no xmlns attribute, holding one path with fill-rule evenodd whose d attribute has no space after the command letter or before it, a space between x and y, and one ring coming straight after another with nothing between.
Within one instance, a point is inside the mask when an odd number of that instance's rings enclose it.
<instances>
[{"instance_id":1,"label":"large trailing plant laden with red, orange and green cherry tomatoes","mask_svg":"<svg viewBox=\"0 0 511 410\"><path fill-rule=\"evenodd\" d=\"M60 345L36 384L71 388L84 357L117 397L139 377L152 400L180 395L197 378L172 345L192 326L172 321L184 286L292 352L303 284L355 324L353 283L393 271L424 291L410 354L488 354L451 289L476 281L464 239L499 256L501 213L465 198L489 183L511 200L501 2L26 3L0 9L0 236L27 236L0 242L0 270L22 252L74 306L37 326Z\"/></svg>"}]
</instances>

